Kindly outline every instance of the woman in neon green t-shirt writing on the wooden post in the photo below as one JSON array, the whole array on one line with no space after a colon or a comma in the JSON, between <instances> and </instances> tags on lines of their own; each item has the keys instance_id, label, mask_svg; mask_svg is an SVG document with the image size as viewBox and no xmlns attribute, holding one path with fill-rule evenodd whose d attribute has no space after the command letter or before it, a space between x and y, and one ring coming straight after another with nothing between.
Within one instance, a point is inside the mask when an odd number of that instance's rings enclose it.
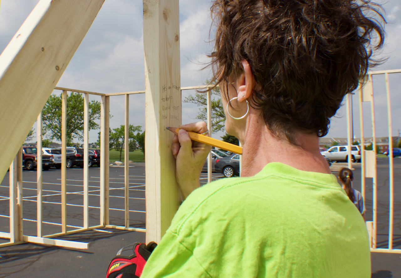
<instances>
[{"instance_id":1,"label":"woman in neon green t-shirt writing on the wooden post","mask_svg":"<svg viewBox=\"0 0 401 278\"><path fill-rule=\"evenodd\" d=\"M215 0L210 55L243 146L240 178L199 188L210 146L173 139L183 198L144 277L370 277L363 219L318 139L383 45L369 0ZM376 16L376 20L373 16ZM213 27L214 28L214 27Z\"/></svg>"}]
</instances>

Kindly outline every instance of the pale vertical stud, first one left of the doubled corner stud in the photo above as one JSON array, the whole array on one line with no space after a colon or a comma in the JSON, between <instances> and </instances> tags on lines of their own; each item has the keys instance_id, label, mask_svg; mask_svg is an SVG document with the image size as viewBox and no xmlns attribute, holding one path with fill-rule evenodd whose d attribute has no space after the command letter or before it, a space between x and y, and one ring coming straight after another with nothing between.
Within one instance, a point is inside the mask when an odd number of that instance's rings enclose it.
<instances>
[{"instance_id":1,"label":"pale vertical stud, first one left of the doubled corner stud","mask_svg":"<svg viewBox=\"0 0 401 278\"><path fill-rule=\"evenodd\" d=\"M84 110L83 110L83 227L87 229L89 227L89 94L84 94Z\"/></svg>"}]
</instances>

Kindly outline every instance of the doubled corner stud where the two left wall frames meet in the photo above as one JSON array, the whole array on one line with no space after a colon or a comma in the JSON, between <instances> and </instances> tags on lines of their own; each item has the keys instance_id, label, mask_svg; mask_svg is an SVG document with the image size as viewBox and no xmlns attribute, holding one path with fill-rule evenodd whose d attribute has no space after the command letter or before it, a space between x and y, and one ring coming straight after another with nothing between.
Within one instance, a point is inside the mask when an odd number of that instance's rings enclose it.
<instances>
[{"instance_id":1,"label":"doubled corner stud where the two left wall frames meet","mask_svg":"<svg viewBox=\"0 0 401 278\"><path fill-rule=\"evenodd\" d=\"M110 97L100 102L100 225L109 224L109 114Z\"/></svg>"}]
</instances>

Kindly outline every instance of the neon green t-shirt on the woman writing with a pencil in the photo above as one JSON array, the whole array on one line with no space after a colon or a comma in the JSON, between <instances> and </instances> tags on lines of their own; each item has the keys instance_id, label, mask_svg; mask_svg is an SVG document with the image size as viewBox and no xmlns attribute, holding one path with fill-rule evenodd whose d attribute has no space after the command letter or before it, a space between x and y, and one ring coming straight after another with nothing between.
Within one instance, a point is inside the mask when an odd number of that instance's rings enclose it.
<instances>
[{"instance_id":1,"label":"neon green t-shirt on the woman writing with a pencil","mask_svg":"<svg viewBox=\"0 0 401 278\"><path fill-rule=\"evenodd\" d=\"M369 278L362 216L330 174L267 164L194 190L141 277Z\"/></svg>"}]
</instances>

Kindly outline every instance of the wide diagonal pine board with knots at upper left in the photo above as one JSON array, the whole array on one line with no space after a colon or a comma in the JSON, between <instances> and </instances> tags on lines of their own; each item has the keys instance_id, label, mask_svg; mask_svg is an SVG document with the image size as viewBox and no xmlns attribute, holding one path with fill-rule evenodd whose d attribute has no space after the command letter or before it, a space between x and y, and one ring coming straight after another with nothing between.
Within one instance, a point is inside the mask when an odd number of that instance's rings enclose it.
<instances>
[{"instance_id":1,"label":"wide diagonal pine board with knots at upper left","mask_svg":"<svg viewBox=\"0 0 401 278\"><path fill-rule=\"evenodd\" d=\"M104 0L40 0L0 55L0 179Z\"/></svg>"}]
</instances>

